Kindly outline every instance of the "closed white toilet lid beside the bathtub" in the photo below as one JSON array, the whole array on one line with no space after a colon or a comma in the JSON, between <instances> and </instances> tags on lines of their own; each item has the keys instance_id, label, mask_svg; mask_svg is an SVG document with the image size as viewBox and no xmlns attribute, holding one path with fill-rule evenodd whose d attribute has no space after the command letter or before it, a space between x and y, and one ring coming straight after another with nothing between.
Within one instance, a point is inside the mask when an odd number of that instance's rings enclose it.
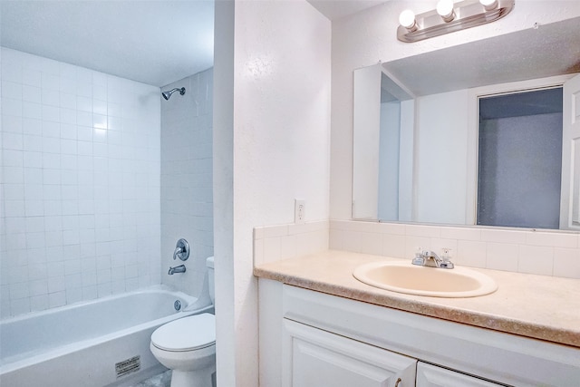
<instances>
[{"instance_id":1,"label":"closed white toilet lid beside the bathtub","mask_svg":"<svg viewBox=\"0 0 580 387\"><path fill-rule=\"evenodd\" d=\"M196 314L161 325L151 343L165 351L193 351L216 343L216 316Z\"/></svg>"}]
</instances>

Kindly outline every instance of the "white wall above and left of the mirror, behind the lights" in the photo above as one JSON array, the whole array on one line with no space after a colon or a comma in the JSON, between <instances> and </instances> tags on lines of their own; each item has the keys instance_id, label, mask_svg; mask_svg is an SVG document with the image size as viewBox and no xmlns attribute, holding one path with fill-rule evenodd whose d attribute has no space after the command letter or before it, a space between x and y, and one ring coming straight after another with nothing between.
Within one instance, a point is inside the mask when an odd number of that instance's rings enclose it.
<instances>
[{"instance_id":1,"label":"white wall above and left of the mirror, behind the lights","mask_svg":"<svg viewBox=\"0 0 580 387\"><path fill-rule=\"evenodd\" d=\"M520 31L536 22L548 24L580 15L580 6L575 0L517 0L510 15L491 24L413 44L396 39L402 10L411 8L419 14L434 9L436 4L436 0L395 0L333 22L331 218L351 218L354 69Z\"/></svg>"}]
</instances>

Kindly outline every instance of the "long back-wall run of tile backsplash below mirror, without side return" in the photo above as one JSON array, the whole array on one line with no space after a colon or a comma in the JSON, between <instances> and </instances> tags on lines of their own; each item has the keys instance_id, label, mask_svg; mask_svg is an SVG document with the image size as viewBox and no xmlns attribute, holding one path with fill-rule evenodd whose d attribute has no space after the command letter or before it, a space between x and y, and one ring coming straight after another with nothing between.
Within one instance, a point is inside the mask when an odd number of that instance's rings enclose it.
<instances>
[{"instance_id":1,"label":"long back-wall run of tile backsplash below mirror, without side return","mask_svg":"<svg viewBox=\"0 0 580 387\"><path fill-rule=\"evenodd\" d=\"M448 247L462 266L580 278L580 235L572 232L331 220L329 247L409 259L418 247Z\"/></svg>"}]
</instances>

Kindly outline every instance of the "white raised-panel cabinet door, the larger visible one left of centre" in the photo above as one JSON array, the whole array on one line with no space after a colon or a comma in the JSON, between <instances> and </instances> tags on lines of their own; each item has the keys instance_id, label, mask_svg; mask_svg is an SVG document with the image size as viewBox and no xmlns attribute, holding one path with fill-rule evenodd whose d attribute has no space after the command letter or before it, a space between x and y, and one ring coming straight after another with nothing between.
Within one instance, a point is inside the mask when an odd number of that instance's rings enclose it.
<instances>
[{"instance_id":1,"label":"white raised-panel cabinet door, the larger visible one left of centre","mask_svg":"<svg viewBox=\"0 0 580 387\"><path fill-rule=\"evenodd\" d=\"M284 320L285 387L412 387L417 361Z\"/></svg>"}]
</instances>

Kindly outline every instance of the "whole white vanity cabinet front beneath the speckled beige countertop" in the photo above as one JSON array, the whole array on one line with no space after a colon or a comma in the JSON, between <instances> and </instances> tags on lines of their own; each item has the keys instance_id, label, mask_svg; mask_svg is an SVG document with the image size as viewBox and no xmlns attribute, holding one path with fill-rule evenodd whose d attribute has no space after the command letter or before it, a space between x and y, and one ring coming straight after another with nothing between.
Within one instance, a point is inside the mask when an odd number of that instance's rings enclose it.
<instances>
[{"instance_id":1,"label":"whole white vanity cabinet front beneath the speckled beige countertop","mask_svg":"<svg viewBox=\"0 0 580 387\"><path fill-rule=\"evenodd\" d=\"M577 387L580 381L575 347L264 278L258 292L265 387Z\"/></svg>"}]
</instances>

